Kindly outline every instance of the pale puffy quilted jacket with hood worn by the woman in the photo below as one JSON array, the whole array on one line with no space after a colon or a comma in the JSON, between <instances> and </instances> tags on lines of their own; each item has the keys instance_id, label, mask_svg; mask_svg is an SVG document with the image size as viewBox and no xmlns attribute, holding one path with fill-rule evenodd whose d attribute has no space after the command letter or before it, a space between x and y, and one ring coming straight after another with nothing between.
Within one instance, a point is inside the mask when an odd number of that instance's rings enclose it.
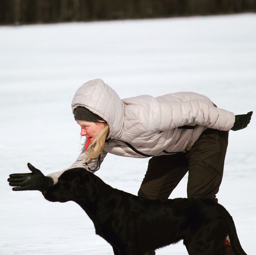
<instances>
[{"instance_id":1,"label":"pale puffy quilted jacket with hood worn by the woman","mask_svg":"<svg viewBox=\"0 0 256 255\"><path fill-rule=\"evenodd\" d=\"M95 171L108 152L144 158L189 151L206 128L229 131L235 122L233 113L215 107L201 94L180 92L121 100L101 79L90 80L76 91L73 113L78 106L84 106L106 120L109 136L99 158L87 164L83 151L68 169L83 167ZM48 176L56 183L62 172Z\"/></svg>"}]
</instances>

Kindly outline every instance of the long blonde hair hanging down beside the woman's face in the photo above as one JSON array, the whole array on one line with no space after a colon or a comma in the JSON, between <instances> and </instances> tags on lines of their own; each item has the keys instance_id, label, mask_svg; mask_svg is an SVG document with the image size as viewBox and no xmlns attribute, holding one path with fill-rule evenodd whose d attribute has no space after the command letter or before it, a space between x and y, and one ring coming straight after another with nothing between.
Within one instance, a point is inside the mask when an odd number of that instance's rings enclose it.
<instances>
[{"instance_id":1,"label":"long blonde hair hanging down beside the woman's face","mask_svg":"<svg viewBox=\"0 0 256 255\"><path fill-rule=\"evenodd\" d=\"M103 123L96 123L96 124L103 124ZM105 126L102 128L99 134L95 137L95 140L93 141L93 143L90 144L86 150L85 162L89 162L91 159L98 157L104 148L105 140L107 138L109 128L108 128L108 124L103 124L103 125ZM87 139L84 142L83 150L85 149L86 142L87 142Z\"/></svg>"}]
</instances>

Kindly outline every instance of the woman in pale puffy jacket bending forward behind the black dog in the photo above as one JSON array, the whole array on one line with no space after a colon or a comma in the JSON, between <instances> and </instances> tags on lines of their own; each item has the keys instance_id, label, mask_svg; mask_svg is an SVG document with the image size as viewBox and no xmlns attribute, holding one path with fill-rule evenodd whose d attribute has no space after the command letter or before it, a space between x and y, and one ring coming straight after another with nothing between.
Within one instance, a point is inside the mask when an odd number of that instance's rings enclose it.
<instances>
[{"instance_id":1,"label":"woman in pale puffy jacket bending forward behind the black dog","mask_svg":"<svg viewBox=\"0 0 256 255\"><path fill-rule=\"evenodd\" d=\"M68 169L97 171L107 153L151 157L139 196L167 199L188 172L188 198L214 202L218 201L228 131L245 128L252 116L252 112L235 116L192 92L121 100L101 79L77 90L72 110L81 136L87 139ZM8 181L16 191L43 191L57 183L62 172L12 174Z\"/></svg>"}]
</instances>

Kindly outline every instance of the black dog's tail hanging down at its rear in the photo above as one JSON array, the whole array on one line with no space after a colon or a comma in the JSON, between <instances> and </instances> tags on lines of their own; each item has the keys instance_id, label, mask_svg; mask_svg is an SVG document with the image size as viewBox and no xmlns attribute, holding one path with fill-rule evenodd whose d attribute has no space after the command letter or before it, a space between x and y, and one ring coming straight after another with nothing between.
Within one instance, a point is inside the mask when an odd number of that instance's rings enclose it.
<instances>
[{"instance_id":1,"label":"black dog's tail hanging down at its rear","mask_svg":"<svg viewBox=\"0 0 256 255\"><path fill-rule=\"evenodd\" d=\"M228 213L228 211L225 209L226 211L226 222L228 223L228 236L229 236L229 240L230 240L230 244L231 244L231 247L232 247L232 250L234 251L234 253L236 255L247 255L245 253L245 251L243 250L240 242L239 242L239 239L238 239L238 236L237 236L237 233L236 233L236 226L235 226L235 223L233 221L233 218L232 216Z\"/></svg>"}]
</instances>

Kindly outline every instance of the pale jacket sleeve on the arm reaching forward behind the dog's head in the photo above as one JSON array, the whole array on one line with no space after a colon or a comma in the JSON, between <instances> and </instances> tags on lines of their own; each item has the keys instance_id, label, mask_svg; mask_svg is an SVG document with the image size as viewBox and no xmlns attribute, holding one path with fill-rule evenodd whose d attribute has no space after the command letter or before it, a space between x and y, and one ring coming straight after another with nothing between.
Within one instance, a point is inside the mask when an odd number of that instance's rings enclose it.
<instances>
[{"instance_id":1,"label":"pale jacket sleeve on the arm reaching forward behind the dog's head","mask_svg":"<svg viewBox=\"0 0 256 255\"><path fill-rule=\"evenodd\" d=\"M100 164L102 163L106 155L107 152L102 151L99 157L91 159L88 163L85 163L85 152L83 150L76 159L76 161L69 168L64 169L63 171L48 174L47 176L51 177L53 179L54 184L56 184L58 182L60 175L68 169L81 167L84 168L84 170L94 173L95 170L99 169Z\"/></svg>"}]
</instances>

